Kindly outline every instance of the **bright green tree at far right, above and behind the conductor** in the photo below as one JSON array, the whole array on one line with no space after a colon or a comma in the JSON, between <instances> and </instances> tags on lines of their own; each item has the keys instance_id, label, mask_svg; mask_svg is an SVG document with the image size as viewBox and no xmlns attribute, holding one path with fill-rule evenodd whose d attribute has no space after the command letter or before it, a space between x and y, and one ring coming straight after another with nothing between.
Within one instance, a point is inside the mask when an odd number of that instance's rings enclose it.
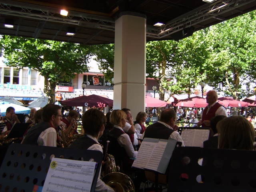
<instances>
[{"instance_id":1,"label":"bright green tree at far right, above and behind the conductor","mask_svg":"<svg viewBox=\"0 0 256 192\"><path fill-rule=\"evenodd\" d=\"M238 98L254 94L256 80L256 12L227 20L210 27L206 36L211 53L204 66L206 82L218 89L222 84L226 95ZM244 88L242 85L246 85Z\"/></svg>"}]
</instances>

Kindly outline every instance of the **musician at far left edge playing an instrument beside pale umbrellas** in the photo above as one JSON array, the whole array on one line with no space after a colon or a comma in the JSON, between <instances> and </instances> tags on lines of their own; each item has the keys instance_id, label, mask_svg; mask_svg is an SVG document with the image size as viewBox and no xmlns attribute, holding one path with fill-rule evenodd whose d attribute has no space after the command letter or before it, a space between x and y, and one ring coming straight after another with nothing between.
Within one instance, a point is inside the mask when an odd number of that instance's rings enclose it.
<instances>
[{"instance_id":1,"label":"musician at far left edge playing an instrument beside pale umbrellas","mask_svg":"<svg viewBox=\"0 0 256 192\"><path fill-rule=\"evenodd\" d=\"M18 116L15 114L15 109L13 107L8 107L6 109L5 117L0 121L0 123L6 123L6 126L4 127L4 130L2 130L1 134L8 135L15 122L20 123Z\"/></svg>"}]
</instances>

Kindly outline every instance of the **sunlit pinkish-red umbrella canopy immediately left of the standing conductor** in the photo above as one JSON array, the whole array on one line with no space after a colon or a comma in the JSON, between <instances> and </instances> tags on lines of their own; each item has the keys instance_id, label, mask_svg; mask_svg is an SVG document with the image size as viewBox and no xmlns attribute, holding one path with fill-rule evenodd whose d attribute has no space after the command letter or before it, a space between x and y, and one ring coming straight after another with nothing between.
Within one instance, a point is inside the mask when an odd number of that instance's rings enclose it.
<instances>
[{"instance_id":1,"label":"sunlit pinkish-red umbrella canopy immediately left of the standing conductor","mask_svg":"<svg viewBox=\"0 0 256 192\"><path fill-rule=\"evenodd\" d=\"M181 107L206 107L208 103L206 103L206 99L195 96L190 97L187 99L178 100L172 103L174 106L181 106Z\"/></svg>"}]
</instances>

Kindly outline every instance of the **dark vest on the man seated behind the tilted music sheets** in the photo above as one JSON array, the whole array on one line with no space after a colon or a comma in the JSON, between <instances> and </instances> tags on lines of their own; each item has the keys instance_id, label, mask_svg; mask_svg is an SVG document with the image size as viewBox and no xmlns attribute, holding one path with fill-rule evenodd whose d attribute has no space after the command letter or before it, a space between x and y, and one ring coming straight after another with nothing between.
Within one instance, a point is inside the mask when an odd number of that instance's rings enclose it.
<instances>
[{"instance_id":1,"label":"dark vest on the man seated behind the tilted music sheets","mask_svg":"<svg viewBox=\"0 0 256 192\"><path fill-rule=\"evenodd\" d=\"M144 138L169 139L172 132L174 132L173 129L156 122L146 128Z\"/></svg>"}]
</instances>

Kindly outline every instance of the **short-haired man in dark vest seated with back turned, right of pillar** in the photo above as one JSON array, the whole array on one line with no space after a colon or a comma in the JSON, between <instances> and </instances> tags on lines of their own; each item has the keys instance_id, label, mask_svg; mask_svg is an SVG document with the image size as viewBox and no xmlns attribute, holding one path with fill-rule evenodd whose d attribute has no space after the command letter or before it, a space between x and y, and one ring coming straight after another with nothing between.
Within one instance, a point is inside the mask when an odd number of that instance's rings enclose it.
<instances>
[{"instance_id":1,"label":"short-haired man in dark vest seated with back turned, right of pillar","mask_svg":"<svg viewBox=\"0 0 256 192\"><path fill-rule=\"evenodd\" d=\"M175 139L176 141L184 142L177 132L178 126L176 125L176 112L173 109L165 109L162 111L160 120L146 128L144 138L156 139Z\"/></svg>"}]
</instances>

